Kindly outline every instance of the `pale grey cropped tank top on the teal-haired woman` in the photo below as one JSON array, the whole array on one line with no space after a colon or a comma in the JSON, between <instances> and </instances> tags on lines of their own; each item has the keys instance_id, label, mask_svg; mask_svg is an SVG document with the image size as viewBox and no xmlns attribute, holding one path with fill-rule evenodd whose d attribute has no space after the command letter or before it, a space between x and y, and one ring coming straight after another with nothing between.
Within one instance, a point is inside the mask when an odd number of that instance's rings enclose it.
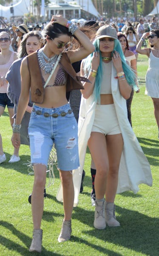
<instances>
[{"instance_id":1,"label":"pale grey cropped tank top on the teal-haired woman","mask_svg":"<svg viewBox=\"0 0 159 256\"><path fill-rule=\"evenodd\" d=\"M108 63L102 61L102 73L100 94L111 94L111 61Z\"/></svg>"}]
</instances>

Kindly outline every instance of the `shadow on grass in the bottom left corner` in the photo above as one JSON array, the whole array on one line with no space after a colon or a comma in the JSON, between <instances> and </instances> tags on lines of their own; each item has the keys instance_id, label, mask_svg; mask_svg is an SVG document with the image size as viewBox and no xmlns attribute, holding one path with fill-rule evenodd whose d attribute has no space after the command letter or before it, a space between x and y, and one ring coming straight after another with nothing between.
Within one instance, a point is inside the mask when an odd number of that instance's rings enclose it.
<instances>
[{"instance_id":1,"label":"shadow on grass in the bottom left corner","mask_svg":"<svg viewBox=\"0 0 159 256\"><path fill-rule=\"evenodd\" d=\"M9 222L0 221L0 225L7 228L8 230L10 230L14 234L14 236L17 236L17 238L20 241L22 241L23 244L25 244L25 246L22 246L22 245L18 244L18 242L16 243L14 241L11 241L9 238L6 238L6 237L1 236L1 235L0 235L0 244L2 244L8 250L15 251L15 252L17 252L17 253L19 253L20 255L23 255L23 256L39 255L39 253L36 253L36 252L30 253L28 251L28 248L30 247L31 240L32 240L29 236L26 236L24 233L17 230ZM1 252L1 253L3 253L3 252ZM53 252L50 252L48 250L45 250L44 247L42 247L42 253L43 253L43 255L47 255L47 256L60 256L61 255L59 253L53 253ZM3 254L1 254L1 255L3 255ZM9 254L9 255L11 255L11 254Z\"/></svg>"}]
</instances>

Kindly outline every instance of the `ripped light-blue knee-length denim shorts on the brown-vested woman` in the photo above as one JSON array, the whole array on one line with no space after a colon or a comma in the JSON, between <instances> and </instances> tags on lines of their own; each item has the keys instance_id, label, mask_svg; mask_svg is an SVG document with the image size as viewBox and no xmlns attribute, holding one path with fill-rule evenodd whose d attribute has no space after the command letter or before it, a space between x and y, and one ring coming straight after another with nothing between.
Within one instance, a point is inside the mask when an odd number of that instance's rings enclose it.
<instances>
[{"instance_id":1,"label":"ripped light-blue knee-length denim shorts on the brown-vested woman","mask_svg":"<svg viewBox=\"0 0 159 256\"><path fill-rule=\"evenodd\" d=\"M69 104L59 108L41 108L36 105L31 112L28 126L31 163L47 166L51 148L54 144L57 152L57 167L62 171L71 171L80 166L78 153L78 127L74 113L67 113ZM41 111L37 114L36 111ZM66 112L65 116L61 116ZM58 114L58 117L47 116Z\"/></svg>"}]
</instances>

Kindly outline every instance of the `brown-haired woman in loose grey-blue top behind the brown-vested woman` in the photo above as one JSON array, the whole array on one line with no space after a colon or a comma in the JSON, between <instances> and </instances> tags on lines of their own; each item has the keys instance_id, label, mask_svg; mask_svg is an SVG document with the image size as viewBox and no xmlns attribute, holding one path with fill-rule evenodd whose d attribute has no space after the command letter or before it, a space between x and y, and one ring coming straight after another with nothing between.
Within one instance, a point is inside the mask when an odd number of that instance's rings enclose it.
<instances>
[{"instance_id":1,"label":"brown-haired woman in loose grey-blue top behind the brown-vested woman","mask_svg":"<svg viewBox=\"0 0 159 256\"><path fill-rule=\"evenodd\" d=\"M14 61L8 72L6 73L6 80L9 82L7 95L11 102L14 103L14 115L17 113L17 105L21 92L21 76L20 76L20 66L24 57L37 51L43 46L43 36L40 32L31 31L23 36L18 49L19 59ZM21 129L20 129L20 143L23 145L29 145L28 138L28 123L30 120L30 113L32 110L31 99L28 102L26 112L24 113Z\"/></svg>"}]
</instances>

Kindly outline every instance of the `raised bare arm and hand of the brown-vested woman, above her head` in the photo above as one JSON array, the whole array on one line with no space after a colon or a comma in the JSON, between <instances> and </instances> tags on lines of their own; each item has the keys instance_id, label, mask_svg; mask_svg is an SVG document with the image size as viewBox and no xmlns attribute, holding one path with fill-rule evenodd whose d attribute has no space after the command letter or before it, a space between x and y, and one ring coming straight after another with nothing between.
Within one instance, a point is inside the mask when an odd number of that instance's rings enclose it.
<instances>
[{"instance_id":1,"label":"raised bare arm and hand of the brown-vested woman, above her head","mask_svg":"<svg viewBox=\"0 0 159 256\"><path fill-rule=\"evenodd\" d=\"M51 19L51 23L59 23L63 26L67 26L68 29L72 26L72 23L70 23L70 21L66 20L61 15L56 15L56 16L53 15ZM67 52L68 57L72 63L84 59L89 54L91 54L95 49L94 45L89 40L88 36L85 35L80 29L78 29L77 26L76 26L76 30L74 31L74 35L80 41L80 44L82 45L82 47L80 47L77 50L71 50Z\"/></svg>"}]
</instances>

